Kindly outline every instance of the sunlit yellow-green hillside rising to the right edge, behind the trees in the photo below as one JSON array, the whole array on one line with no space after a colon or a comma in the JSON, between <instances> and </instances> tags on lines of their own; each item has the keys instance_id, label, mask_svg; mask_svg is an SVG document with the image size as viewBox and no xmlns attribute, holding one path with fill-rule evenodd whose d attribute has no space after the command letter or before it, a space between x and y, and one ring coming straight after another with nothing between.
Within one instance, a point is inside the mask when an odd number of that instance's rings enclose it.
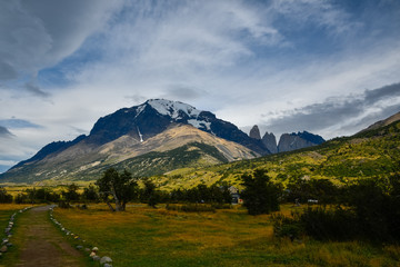
<instances>
[{"instance_id":1,"label":"sunlit yellow-green hillside rising to the right edge, behind the trees","mask_svg":"<svg viewBox=\"0 0 400 267\"><path fill-rule=\"evenodd\" d=\"M360 178L384 178L400 171L400 122L336 138L318 147L208 168L178 169L152 178L167 190L199 182L240 187L241 176L254 168L267 169L270 177L283 184L326 178L341 185Z\"/></svg>"}]
</instances>

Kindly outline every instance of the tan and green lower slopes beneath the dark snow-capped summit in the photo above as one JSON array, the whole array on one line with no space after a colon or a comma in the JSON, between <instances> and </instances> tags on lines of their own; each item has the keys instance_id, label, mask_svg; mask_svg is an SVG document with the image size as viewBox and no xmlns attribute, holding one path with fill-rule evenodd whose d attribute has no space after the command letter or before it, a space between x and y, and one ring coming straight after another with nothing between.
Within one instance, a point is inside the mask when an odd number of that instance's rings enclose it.
<instances>
[{"instance_id":1,"label":"tan and green lower slopes beneath the dark snow-capped summit","mask_svg":"<svg viewBox=\"0 0 400 267\"><path fill-rule=\"evenodd\" d=\"M129 135L102 146L93 146L84 139L48 157L16 166L1 175L1 181L94 180L111 166L127 168L138 176L150 176L176 168L210 166L257 156L239 144L192 126L171 125L142 142Z\"/></svg>"}]
</instances>

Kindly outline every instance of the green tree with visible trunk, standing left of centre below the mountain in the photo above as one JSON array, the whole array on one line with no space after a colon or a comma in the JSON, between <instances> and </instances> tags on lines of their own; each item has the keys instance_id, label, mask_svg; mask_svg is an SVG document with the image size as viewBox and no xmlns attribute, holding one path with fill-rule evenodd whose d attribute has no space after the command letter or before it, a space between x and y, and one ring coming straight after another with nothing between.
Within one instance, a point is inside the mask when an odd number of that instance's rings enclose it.
<instances>
[{"instance_id":1,"label":"green tree with visible trunk, standing left of centre below the mountain","mask_svg":"<svg viewBox=\"0 0 400 267\"><path fill-rule=\"evenodd\" d=\"M138 191L138 182L132 175L127 170L119 174L114 168L107 169L96 185L99 187L100 197L112 211L126 210L127 202L132 200ZM114 201L116 208L111 201Z\"/></svg>"}]
</instances>

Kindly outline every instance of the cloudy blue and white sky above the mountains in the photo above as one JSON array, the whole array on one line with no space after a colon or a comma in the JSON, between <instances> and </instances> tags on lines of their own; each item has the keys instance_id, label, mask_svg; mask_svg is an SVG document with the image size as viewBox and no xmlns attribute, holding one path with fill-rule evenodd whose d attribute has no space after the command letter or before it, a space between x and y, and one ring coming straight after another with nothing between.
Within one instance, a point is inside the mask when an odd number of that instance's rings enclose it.
<instances>
[{"instance_id":1,"label":"cloudy blue and white sky above the mountains","mask_svg":"<svg viewBox=\"0 0 400 267\"><path fill-rule=\"evenodd\" d=\"M400 111L398 0L0 1L0 172L151 98L244 131Z\"/></svg>"}]
</instances>

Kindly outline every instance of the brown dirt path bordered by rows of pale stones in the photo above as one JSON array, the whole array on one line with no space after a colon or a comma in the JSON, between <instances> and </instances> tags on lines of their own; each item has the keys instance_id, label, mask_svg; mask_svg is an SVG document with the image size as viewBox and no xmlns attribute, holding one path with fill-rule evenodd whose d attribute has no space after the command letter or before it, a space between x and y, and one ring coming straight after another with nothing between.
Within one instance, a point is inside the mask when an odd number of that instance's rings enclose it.
<instances>
[{"instance_id":1,"label":"brown dirt path bordered by rows of pale stones","mask_svg":"<svg viewBox=\"0 0 400 267\"><path fill-rule=\"evenodd\" d=\"M21 215L18 235L23 235L23 241L14 266L87 266L83 256L50 222L50 207L36 207Z\"/></svg>"}]
</instances>

